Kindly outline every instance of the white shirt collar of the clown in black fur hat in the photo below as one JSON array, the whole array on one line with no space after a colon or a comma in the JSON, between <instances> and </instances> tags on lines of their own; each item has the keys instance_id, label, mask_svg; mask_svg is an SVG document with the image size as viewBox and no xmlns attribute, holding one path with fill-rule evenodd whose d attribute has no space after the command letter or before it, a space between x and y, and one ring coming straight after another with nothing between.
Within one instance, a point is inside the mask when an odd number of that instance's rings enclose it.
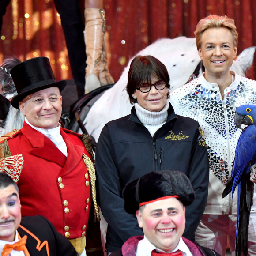
<instances>
[{"instance_id":1,"label":"white shirt collar of the clown in black fur hat","mask_svg":"<svg viewBox=\"0 0 256 256\"><path fill-rule=\"evenodd\" d=\"M151 252L155 249L163 252L162 250L152 245L151 242L147 240L147 237L144 236L144 238L138 243L136 256L151 256ZM182 238L180 238L178 245L171 252L176 252L177 250L180 250L183 256L192 256L191 252L188 249L188 246L184 243Z\"/></svg>"}]
</instances>

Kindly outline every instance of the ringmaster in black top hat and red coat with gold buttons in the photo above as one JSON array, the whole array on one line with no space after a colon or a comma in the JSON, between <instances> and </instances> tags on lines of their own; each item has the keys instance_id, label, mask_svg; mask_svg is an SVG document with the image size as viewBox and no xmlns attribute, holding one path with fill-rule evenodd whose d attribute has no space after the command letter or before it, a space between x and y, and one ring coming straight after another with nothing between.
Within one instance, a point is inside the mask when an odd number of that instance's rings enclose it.
<instances>
[{"instance_id":1,"label":"ringmaster in black top hat and red coat with gold buttons","mask_svg":"<svg viewBox=\"0 0 256 256\"><path fill-rule=\"evenodd\" d=\"M11 105L25 121L21 130L0 138L0 171L17 182L23 216L48 218L79 255L86 255L92 201L98 213L90 138L60 127L66 81L55 81L48 58L26 60L10 74L18 92Z\"/></svg>"}]
</instances>

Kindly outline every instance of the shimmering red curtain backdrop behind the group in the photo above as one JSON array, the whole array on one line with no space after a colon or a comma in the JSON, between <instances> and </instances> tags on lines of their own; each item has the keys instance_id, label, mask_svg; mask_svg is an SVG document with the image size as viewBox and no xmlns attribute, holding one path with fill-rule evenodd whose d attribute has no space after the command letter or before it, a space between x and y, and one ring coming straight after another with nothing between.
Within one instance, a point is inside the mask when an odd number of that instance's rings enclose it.
<instances>
[{"instance_id":1,"label":"shimmering red curtain backdrop behind the group","mask_svg":"<svg viewBox=\"0 0 256 256\"><path fill-rule=\"evenodd\" d=\"M256 45L254 0L104 0L104 8L109 68L116 81L128 60L141 49L158 38L194 37L198 21L210 14L235 19L238 53ZM11 0L0 38L0 62L8 56L20 60L48 56L57 80L72 79L53 0ZM256 79L255 63L247 73L251 79Z\"/></svg>"}]
</instances>

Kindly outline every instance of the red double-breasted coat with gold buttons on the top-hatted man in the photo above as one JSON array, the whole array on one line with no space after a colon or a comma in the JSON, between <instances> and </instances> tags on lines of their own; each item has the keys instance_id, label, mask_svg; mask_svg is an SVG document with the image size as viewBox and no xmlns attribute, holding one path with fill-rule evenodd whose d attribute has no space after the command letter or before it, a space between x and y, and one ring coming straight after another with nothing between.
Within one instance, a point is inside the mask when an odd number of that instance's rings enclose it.
<instances>
[{"instance_id":1,"label":"red double-breasted coat with gold buttons on the top-hatted man","mask_svg":"<svg viewBox=\"0 0 256 256\"><path fill-rule=\"evenodd\" d=\"M82 156L90 155L78 135L62 128L60 134L68 157L26 122L8 144L11 155L23 154L24 159L18 181L22 216L43 215L71 239L86 233L91 186Z\"/></svg>"}]
</instances>

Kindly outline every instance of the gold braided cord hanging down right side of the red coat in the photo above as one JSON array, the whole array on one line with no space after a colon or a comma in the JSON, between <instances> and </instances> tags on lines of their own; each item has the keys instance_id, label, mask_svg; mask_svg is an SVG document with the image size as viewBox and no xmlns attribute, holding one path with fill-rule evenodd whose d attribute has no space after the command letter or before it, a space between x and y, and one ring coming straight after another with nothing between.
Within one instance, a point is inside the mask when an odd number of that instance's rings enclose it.
<instances>
[{"instance_id":1,"label":"gold braided cord hanging down right side of the red coat","mask_svg":"<svg viewBox=\"0 0 256 256\"><path fill-rule=\"evenodd\" d=\"M93 204L94 204L94 216L95 216L94 221L96 221L96 217L97 217L97 220L100 221L101 218L99 215L98 204L96 201L96 186L95 186L96 173L95 173L95 169L94 169L94 163L84 153L83 153L83 162L85 163L85 165L87 167L87 171L88 171L89 177L90 177L92 200L93 200Z\"/></svg>"}]
</instances>

